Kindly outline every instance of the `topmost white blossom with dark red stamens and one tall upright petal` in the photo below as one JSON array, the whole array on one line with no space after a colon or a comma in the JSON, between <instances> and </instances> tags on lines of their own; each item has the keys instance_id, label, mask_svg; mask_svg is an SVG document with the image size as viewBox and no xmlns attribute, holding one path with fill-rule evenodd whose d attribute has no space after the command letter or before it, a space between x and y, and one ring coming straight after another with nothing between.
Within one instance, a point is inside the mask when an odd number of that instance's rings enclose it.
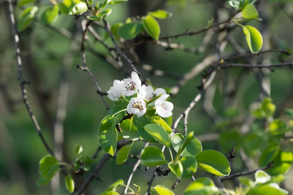
<instances>
[{"instance_id":1,"label":"topmost white blossom with dark red stamens and one tall upright petal","mask_svg":"<svg viewBox=\"0 0 293 195\"><path fill-rule=\"evenodd\" d=\"M131 78L124 79L122 93L127 97L133 96L137 93L141 86L142 81L139 79L138 74L133 71L131 73Z\"/></svg>"}]
</instances>

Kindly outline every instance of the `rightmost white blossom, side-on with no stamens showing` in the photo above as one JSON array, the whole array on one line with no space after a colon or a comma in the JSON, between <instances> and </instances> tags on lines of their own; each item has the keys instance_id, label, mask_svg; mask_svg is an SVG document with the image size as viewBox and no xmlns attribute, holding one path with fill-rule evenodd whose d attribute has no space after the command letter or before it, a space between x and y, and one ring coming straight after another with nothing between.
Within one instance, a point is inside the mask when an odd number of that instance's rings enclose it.
<instances>
[{"instance_id":1,"label":"rightmost white blossom, side-on with no stamens showing","mask_svg":"<svg viewBox=\"0 0 293 195\"><path fill-rule=\"evenodd\" d=\"M173 104L166 99L169 97L167 94L163 94L155 101L156 113L161 117L170 117L172 115Z\"/></svg>"}]
</instances>

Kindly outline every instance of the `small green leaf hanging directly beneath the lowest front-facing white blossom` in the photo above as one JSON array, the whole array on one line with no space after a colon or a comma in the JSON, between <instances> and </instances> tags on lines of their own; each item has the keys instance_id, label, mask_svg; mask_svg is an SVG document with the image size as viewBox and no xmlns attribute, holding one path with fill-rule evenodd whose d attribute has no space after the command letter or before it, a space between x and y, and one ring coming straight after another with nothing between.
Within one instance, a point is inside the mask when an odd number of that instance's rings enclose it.
<instances>
[{"instance_id":1,"label":"small green leaf hanging directly beneath the lowest front-facing white blossom","mask_svg":"<svg viewBox=\"0 0 293 195\"><path fill-rule=\"evenodd\" d=\"M139 134L137 133L137 128L134 126L133 118L123 120L120 123L122 129L121 135L128 140L136 141L139 139Z\"/></svg>"}]
</instances>

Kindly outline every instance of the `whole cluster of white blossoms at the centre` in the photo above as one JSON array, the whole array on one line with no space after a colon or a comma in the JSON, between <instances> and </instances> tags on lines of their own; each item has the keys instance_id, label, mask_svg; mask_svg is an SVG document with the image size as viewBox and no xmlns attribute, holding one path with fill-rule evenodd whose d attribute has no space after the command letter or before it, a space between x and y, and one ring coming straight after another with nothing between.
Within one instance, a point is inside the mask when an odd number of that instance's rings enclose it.
<instances>
[{"instance_id":1,"label":"whole cluster of white blossoms at the centre","mask_svg":"<svg viewBox=\"0 0 293 195\"><path fill-rule=\"evenodd\" d=\"M136 72L131 73L131 78L124 80L114 80L113 86L107 91L108 98L113 101L131 97L127 112L129 114L142 117L146 114L146 109L156 109L156 113L161 117L170 117L172 115L173 104L166 101L169 95L165 89L158 88L154 90L151 86L142 85L142 81ZM159 97L159 98L158 98ZM156 98L153 102L152 99Z\"/></svg>"}]
</instances>

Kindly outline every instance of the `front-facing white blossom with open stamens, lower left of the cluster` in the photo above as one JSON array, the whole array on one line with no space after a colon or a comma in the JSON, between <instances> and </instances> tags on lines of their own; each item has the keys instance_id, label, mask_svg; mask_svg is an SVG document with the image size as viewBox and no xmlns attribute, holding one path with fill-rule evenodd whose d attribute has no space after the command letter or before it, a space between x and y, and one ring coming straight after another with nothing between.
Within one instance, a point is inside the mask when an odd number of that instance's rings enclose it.
<instances>
[{"instance_id":1,"label":"front-facing white blossom with open stamens, lower left of the cluster","mask_svg":"<svg viewBox=\"0 0 293 195\"><path fill-rule=\"evenodd\" d=\"M127 105L127 112L142 117L146 113L146 102L142 98L131 98Z\"/></svg>"}]
</instances>

